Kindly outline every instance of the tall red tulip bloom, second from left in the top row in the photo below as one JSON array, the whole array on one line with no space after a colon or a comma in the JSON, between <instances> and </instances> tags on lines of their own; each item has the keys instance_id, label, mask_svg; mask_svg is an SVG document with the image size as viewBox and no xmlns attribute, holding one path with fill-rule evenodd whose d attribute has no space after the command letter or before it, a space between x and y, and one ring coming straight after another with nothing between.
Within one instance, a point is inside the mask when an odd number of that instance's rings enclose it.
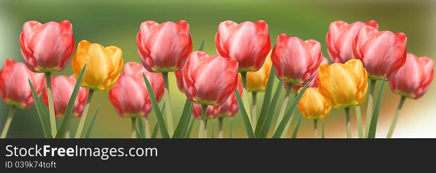
<instances>
[{"instance_id":1,"label":"tall red tulip bloom, second from left in the top row","mask_svg":"<svg viewBox=\"0 0 436 173\"><path fill-rule=\"evenodd\" d=\"M142 64L155 73L179 70L192 51L189 24L184 20L162 24L151 20L142 22L136 43Z\"/></svg>"}]
</instances>

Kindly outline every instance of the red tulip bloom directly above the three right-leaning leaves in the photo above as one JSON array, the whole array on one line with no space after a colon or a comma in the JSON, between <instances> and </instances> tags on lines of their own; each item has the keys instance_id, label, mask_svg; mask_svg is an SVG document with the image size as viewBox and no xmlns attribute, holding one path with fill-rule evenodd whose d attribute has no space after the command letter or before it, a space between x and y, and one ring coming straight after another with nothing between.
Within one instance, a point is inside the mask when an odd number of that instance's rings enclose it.
<instances>
[{"instance_id":1,"label":"red tulip bloom directly above the three right-leaning leaves","mask_svg":"<svg viewBox=\"0 0 436 173\"><path fill-rule=\"evenodd\" d=\"M272 49L272 65L278 79L303 85L312 80L320 66L321 44L280 34Z\"/></svg>"}]
</instances>

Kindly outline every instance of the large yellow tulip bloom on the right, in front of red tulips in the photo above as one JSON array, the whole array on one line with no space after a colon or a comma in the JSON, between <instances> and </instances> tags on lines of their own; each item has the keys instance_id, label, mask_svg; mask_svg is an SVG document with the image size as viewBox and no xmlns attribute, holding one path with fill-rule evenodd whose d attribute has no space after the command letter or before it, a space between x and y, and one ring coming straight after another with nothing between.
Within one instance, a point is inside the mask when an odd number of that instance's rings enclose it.
<instances>
[{"instance_id":1,"label":"large yellow tulip bloom on the right, in front of red tulips","mask_svg":"<svg viewBox=\"0 0 436 173\"><path fill-rule=\"evenodd\" d=\"M323 64L318 70L318 90L333 108L350 108L365 101L368 73L359 59L345 64Z\"/></svg>"}]
</instances>

